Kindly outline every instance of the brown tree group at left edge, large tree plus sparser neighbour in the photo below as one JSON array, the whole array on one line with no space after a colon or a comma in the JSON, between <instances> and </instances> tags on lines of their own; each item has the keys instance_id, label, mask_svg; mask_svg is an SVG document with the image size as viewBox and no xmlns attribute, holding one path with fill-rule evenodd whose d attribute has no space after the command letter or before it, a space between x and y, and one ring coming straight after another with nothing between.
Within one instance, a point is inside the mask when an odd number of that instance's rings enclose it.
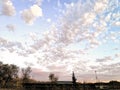
<instances>
[{"instance_id":1,"label":"brown tree group at left edge, large tree plus sparser neighbour","mask_svg":"<svg viewBox=\"0 0 120 90\"><path fill-rule=\"evenodd\" d=\"M30 79L31 67L20 68L14 64L0 62L0 88L18 87L25 82L35 82Z\"/></svg>"}]
</instances>

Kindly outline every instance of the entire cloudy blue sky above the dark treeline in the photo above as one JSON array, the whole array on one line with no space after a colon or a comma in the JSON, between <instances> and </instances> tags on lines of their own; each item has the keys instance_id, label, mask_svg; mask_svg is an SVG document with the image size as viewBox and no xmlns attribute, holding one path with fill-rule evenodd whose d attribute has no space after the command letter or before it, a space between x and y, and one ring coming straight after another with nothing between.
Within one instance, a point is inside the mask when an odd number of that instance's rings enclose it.
<instances>
[{"instance_id":1,"label":"entire cloudy blue sky above the dark treeline","mask_svg":"<svg viewBox=\"0 0 120 90\"><path fill-rule=\"evenodd\" d=\"M120 0L0 0L0 61L40 81L120 81Z\"/></svg>"}]
</instances>

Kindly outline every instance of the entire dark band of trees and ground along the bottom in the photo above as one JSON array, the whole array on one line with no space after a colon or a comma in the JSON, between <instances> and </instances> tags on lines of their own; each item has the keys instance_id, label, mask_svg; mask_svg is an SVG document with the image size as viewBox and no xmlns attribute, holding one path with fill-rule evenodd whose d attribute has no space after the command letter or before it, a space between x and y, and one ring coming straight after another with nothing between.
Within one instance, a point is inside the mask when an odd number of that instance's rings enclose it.
<instances>
[{"instance_id":1,"label":"entire dark band of trees and ground along the bottom","mask_svg":"<svg viewBox=\"0 0 120 90\"><path fill-rule=\"evenodd\" d=\"M73 72L72 81L58 81L50 73L49 82L31 79L31 67L20 68L0 62L0 90L120 90L120 82L78 83Z\"/></svg>"}]
</instances>

